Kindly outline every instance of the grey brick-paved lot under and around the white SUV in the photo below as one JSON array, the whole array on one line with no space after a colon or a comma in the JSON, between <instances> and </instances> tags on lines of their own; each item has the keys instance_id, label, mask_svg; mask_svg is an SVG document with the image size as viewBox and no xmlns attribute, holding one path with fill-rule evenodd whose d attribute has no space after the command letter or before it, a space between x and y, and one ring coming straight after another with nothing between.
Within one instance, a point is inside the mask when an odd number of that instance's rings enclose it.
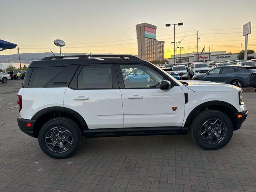
<instances>
[{"instance_id":1,"label":"grey brick-paved lot under and around the white SUV","mask_svg":"<svg viewBox=\"0 0 256 192\"><path fill-rule=\"evenodd\" d=\"M189 135L92 138L56 160L18 128L21 82L0 83L0 192L256 191L256 93L244 93L248 119L220 150Z\"/></svg>"}]
</instances>

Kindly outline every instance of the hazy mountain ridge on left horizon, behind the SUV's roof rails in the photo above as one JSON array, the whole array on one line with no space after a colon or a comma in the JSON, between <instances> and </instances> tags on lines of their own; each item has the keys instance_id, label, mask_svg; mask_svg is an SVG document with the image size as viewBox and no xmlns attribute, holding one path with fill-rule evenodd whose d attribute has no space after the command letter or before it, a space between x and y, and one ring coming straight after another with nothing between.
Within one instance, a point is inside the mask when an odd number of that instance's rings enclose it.
<instances>
[{"instance_id":1,"label":"hazy mountain ridge on left horizon, behind the SUV's roof rails","mask_svg":"<svg viewBox=\"0 0 256 192\"><path fill-rule=\"evenodd\" d=\"M54 53L58 56L60 53ZM65 53L64 55L85 55L85 53ZM116 55L109 53L109 55ZM40 60L44 57L53 56L51 52L46 53L21 53L20 54L20 61L18 54L12 55L0 55L0 62L6 62L6 59L11 59L14 63L30 63L33 60Z\"/></svg>"}]
</instances>

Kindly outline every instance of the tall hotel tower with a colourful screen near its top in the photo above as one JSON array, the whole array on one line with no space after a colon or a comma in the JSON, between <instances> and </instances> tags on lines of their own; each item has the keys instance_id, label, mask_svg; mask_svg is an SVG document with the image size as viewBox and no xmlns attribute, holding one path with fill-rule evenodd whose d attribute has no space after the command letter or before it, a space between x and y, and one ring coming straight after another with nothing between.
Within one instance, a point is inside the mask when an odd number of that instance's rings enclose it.
<instances>
[{"instance_id":1,"label":"tall hotel tower with a colourful screen near its top","mask_svg":"<svg viewBox=\"0 0 256 192\"><path fill-rule=\"evenodd\" d=\"M164 60L164 41L156 39L156 26L148 23L136 25L138 57L142 60Z\"/></svg>"}]
</instances>

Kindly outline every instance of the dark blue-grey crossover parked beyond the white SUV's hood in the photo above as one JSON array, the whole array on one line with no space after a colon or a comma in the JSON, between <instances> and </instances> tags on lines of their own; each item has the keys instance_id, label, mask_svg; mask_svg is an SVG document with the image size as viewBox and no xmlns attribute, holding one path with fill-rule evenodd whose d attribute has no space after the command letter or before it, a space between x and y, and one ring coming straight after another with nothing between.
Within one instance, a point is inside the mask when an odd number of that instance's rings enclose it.
<instances>
[{"instance_id":1,"label":"dark blue-grey crossover parked beyond the white SUV's hood","mask_svg":"<svg viewBox=\"0 0 256 192\"><path fill-rule=\"evenodd\" d=\"M256 87L256 66L220 66L206 74L197 74L193 80L232 84L238 87Z\"/></svg>"}]
</instances>

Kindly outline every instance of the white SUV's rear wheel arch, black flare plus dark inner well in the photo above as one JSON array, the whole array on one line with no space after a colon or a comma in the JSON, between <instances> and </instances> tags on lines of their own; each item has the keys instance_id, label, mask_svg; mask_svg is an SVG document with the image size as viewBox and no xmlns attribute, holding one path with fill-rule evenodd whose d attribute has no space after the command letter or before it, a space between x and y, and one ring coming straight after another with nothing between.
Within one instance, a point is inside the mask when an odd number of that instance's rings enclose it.
<instances>
[{"instance_id":1,"label":"white SUV's rear wheel arch, black flare plus dark inner well","mask_svg":"<svg viewBox=\"0 0 256 192\"><path fill-rule=\"evenodd\" d=\"M84 118L78 112L66 107L48 107L38 111L31 118L32 120L36 120L33 126L34 136L38 138L42 126L56 117L66 117L74 120L80 126L82 132L84 129L88 129Z\"/></svg>"}]
</instances>

